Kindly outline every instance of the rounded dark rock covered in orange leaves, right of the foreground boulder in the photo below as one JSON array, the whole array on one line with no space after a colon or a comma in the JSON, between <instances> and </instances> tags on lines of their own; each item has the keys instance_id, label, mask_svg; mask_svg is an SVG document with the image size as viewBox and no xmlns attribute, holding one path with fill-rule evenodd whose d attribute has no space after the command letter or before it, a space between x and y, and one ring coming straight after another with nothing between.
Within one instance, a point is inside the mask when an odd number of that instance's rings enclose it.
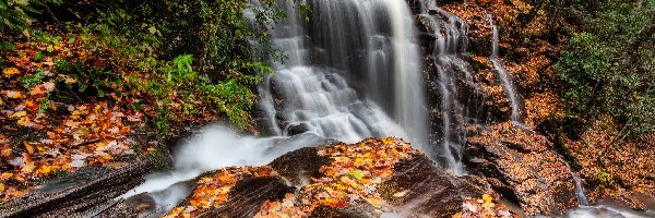
<instances>
[{"instance_id":1,"label":"rounded dark rock covered in orange leaves, right of the foreground boulder","mask_svg":"<svg viewBox=\"0 0 655 218\"><path fill-rule=\"evenodd\" d=\"M545 136L495 125L468 138L466 165L528 215L553 215L576 206L570 169Z\"/></svg>"}]
</instances>

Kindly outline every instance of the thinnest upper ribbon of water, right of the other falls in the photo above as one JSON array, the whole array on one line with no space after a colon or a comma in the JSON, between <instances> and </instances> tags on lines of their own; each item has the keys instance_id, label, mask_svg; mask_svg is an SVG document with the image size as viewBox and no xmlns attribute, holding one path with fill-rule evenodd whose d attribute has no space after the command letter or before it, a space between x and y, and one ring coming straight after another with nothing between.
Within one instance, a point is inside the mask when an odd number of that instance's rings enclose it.
<instances>
[{"instance_id":1,"label":"thinnest upper ribbon of water, right of the other falls","mask_svg":"<svg viewBox=\"0 0 655 218\"><path fill-rule=\"evenodd\" d=\"M503 89L505 90L505 95L508 96L508 98L510 99L511 106L512 106L512 113L511 113L511 120L512 122L514 122L515 124L523 124L523 120L521 118L521 105L519 101L519 96L516 94L516 90L514 88L514 85L512 84L512 78L508 75L508 72L505 71L505 69L502 65L502 62L500 60L500 57L498 57L498 44L499 44L499 33L498 33L498 26L496 26L496 23L493 23L493 19L491 19L491 15L489 15L489 24L491 25L491 31L493 34L493 39L492 39L492 52L491 56L489 57L489 60L491 61L491 63L493 64L493 70L496 70L496 72L498 72L498 77L500 78L500 84L502 85Z\"/></svg>"}]
</instances>

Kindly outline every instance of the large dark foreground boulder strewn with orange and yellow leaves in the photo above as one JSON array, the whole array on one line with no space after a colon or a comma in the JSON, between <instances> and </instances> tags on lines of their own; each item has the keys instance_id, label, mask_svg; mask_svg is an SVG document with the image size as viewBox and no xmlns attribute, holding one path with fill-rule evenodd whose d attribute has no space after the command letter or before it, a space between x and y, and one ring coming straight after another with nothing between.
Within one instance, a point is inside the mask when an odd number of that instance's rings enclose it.
<instances>
[{"instance_id":1,"label":"large dark foreground boulder strewn with orange and yellow leaves","mask_svg":"<svg viewBox=\"0 0 655 218\"><path fill-rule=\"evenodd\" d=\"M369 138L205 173L167 216L451 217L481 195L402 140Z\"/></svg>"}]
</instances>

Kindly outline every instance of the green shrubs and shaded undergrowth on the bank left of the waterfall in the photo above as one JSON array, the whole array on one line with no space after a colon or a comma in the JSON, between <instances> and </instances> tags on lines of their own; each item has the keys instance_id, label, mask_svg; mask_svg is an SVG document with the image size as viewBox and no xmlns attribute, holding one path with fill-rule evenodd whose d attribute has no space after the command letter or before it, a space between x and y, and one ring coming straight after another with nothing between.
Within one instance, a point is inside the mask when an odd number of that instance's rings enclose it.
<instances>
[{"instance_id":1,"label":"green shrubs and shaded undergrowth on the bank left of the waterfall","mask_svg":"<svg viewBox=\"0 0 655 218\"><path fill-rule=\"evenodd\" d=\"M0 2L2 46L11 51L14 41L58 46L84 40L103 64L60 59L56 68L85 82L76 93L104 98L123 86L121 90L131 92L126 95L146 95L156 107L152 120L160 132L184 121L171 116L172 110L226 114L236 128L254 131L253 87L262 73L271 72L266 59L282 58L270 46L264 26L285 14L265 3L251 8L257 15L251 24L243 16L251 7L246 0L10 0ZM251 41L259 46L251 47ZM0 66L5 62L2 58ZM181 109L174 98L181 98Z\"/></svg>"}]
</instances>

